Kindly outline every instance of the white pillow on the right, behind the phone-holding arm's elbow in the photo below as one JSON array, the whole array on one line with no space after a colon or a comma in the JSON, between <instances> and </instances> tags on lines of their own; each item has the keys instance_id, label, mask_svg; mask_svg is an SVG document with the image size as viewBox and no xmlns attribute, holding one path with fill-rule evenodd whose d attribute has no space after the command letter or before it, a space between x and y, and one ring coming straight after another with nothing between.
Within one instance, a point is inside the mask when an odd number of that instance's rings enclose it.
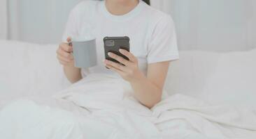
<instances>
[{"instance_id":1,"label":"white pillow on the right, behind the phone-holding arm's elbow","mask_svg":"<svg viewBox=\"0 0 256 139\"><path fill-rule=\"evenodd\" d=\"M166 90L217 104L256 106L256 49L217 53L181 51L171 63Z\"/></svg>"}]
</instances>

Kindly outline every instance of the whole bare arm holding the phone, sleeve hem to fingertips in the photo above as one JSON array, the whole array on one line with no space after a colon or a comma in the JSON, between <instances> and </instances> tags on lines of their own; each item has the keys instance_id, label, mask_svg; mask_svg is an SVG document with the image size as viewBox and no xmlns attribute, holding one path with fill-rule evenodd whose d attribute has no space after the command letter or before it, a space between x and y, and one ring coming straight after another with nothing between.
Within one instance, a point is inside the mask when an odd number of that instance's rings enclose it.
<instances>
[{"instance_id":1,"label":"whole bare arm holding the phone, sleeve hem to fingertips","mask_svg":"<svg viewBox=\"0 0 256 139\"><path fill-rule=\"evenodd\" d=\"M125 49L120 49L120 53L129 58L126 60L121 56L108 53L108 56L118 60L122 65L111 60L104 60L106 67L118 72L122 79L129 81L134 89L135 97L144 106L152 108L162 99L162 88L168 71L169 61L148 65L148 74L145 76L138 68L138 59Z\"/></svg>"}]
</instances>

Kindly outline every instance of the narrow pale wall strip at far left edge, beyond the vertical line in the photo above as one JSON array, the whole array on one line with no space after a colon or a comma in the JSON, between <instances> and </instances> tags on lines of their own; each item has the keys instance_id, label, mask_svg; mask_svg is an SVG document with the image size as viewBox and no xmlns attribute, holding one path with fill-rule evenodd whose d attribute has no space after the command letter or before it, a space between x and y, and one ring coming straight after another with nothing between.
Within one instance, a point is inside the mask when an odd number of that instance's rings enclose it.
<instances>
[{"instance_id":1,"label":"narrow pale wall strip at far left edge, beyond the vertical line","mask_svg":"<svg viewBox=\"0 0 256 139\"><path fill-rule=\"evenodd\" d=\"M0 39L7 38L7 4L6 0L0 0Z\"/></svg>"}]
</instances>

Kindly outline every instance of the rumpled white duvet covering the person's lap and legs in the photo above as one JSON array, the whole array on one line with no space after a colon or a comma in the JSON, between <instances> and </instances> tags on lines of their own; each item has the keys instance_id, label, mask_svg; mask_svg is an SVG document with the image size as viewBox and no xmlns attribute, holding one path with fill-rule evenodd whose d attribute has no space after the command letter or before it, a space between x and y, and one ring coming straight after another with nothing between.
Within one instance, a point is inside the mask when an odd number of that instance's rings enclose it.
<instances>
[{"instance_id":1,"label":"rumpled white duvet covering the person's lap and legs","mask_svg":"<svg viewBox=\"0 0 256 139\"><path fill-rule=\"evenodd\" d=\"M122 79L90 74L52 98L27 97L4 106L0 138L255 139L256 108L173 95L149 110Z\"/></svg>"}]
</instances>

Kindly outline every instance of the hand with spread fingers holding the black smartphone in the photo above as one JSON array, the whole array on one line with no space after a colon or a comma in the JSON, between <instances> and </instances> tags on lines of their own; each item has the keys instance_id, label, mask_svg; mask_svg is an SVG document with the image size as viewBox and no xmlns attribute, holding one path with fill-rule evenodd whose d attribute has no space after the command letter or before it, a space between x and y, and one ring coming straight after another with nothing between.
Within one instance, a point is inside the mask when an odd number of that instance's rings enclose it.
<instances>
[{"instance_id":1,"label":"hand with spread fingers holding the black smartphone","mask_svg":"<svg viewBox=\"0 0 256 139\"><path fill-rule=\"evenodd\" d=\"M122 63L123 65L115 63L111 60L104 60L106 67L114 72L118 72L118 74L120 74L120 76L122 76L122 78L126 81L131 82L141 79L141 77L143 77L143 73L138 69L138 59L136 56L125 49L120 49L120 53L129 58L129 60L109 52L108 56L118 60L118 62Z\"/></svg>"}]
</instances>

